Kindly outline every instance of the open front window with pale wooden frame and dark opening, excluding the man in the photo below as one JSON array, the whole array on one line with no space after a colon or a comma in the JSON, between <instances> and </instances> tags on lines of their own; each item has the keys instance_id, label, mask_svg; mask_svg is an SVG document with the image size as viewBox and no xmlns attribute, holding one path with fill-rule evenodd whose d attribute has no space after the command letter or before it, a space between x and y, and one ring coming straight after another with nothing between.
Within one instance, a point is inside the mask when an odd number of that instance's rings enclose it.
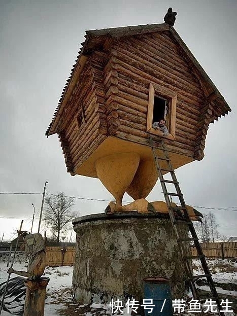
<instances>
[{"instance_id":1,"label":"open front window with pale wooden frame and dark opening, excluding the man","mask_svg":"<svg viewBox=\"0 0 237 316\"><path fill-rule=\"evenodd\" d=\"M160 86L150 83L147 131L168 139L175 139L177 94ZM165 120L168 135L163 136L163 132L152 127L154 122Z\"/></svg>"}]
</instances>

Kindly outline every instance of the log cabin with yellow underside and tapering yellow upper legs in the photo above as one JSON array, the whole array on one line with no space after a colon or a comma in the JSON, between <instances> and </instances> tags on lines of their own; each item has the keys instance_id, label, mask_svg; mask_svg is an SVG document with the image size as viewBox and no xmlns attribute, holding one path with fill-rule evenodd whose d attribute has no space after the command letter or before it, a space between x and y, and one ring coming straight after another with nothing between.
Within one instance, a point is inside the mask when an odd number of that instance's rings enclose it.
<instances>
[{"instance_id":1,"label":"log cabin with yellow underside and tapering yellow upper legs","mask_svg":"<svg viewBox=\"0 0 237 316\"><path fill-rule=\"evenodd\" d=\"M204 158L209 125L230 111L173 26L89 30L46 135L58 134L67 172L99 178L121 204L158 179L150 134L176 169ZM152 127L161 119L167 136Z\"/></svg>"}]
</instances>

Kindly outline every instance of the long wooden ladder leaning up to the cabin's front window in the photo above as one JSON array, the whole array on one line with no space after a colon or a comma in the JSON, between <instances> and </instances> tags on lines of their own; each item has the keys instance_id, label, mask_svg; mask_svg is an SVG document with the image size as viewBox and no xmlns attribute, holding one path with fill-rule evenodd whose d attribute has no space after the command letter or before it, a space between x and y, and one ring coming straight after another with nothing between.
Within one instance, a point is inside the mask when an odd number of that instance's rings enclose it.
<instances>
[{"instance_id":1,"label":"long wooden ladder leaning up to the cabin's front window","mask_svg":"<svg viewBox=\"0 0 237 316\"><path fill-rule=\"evenodd\" d=\"M189 282L190 282L190 287L191 287L193 298L196 300L199 299L199 296L198 296L198 293L196 290L196 286L195 286L195 279L200 278L200 277L206 277L208 285L209 285L209 287L211 289L211 293L212 293L212 296L208 297L208 299L212 299L213 301L216 302L218 314L220 316L224 316L225 314L223 311L221 311L222 308L221 308L218 294L217 294L217 291L216 291L216 288L215 288L215 285L214 285L214 282L212 279L212 274L208 268L207 261L206 261L204 253L202 252L195 228L194 228L194 226L191 222L191 219L189 217L188 210L187 210L184 198L183 198L183 194L182 194L180 186L179 186L179 182L177 181L174 168L171 164L170 158L168 157L168 153L165 149L164 143L160 139L160 141L159 141L160 147L158 147L158 149L162 150L163 157L158 157L156 154L156 150L154 147L152 136L149 136L149 142L150 142L150 146L151 146L152 151L153 151L153 156L155 159L156 168L158 171L159 180L160 180L160 184L161 184L161 187L163 190L165 202L168 206L168 213L170 215L171 223L172 223L172 226L173 226L175 234L176 234L176 239L178 242L179 251L181 253L181 256L182 256L182 259L184 262L185 272L186 272L186 275L187 275ZM162 168L160 166L160 161L165 162L167 164L167 168ZM163 178L162 172L170 172L172 180L165 180ZM167 188L166 188L166 183L174 185L174 187L176 189L176 193L168 192ZM170 199L170 197L172 197L172 196L177 196L179 198L181 206L175 206L175 207L172 206L172 202ZM174 212L177 212L178 214L183 213L182 219L176 219ZM178 225L187 225L188 229L190 231L191 237L190 238L182 238L180 236L178 229L177 229ZM189 241L192 241L194 243L196 251L197 251L197 256L187 256L186 255L184 243L189 242ZM189 263L190 259L199 259L205 274L193 276L192 266L190 266L190 263ZM199 302L201 304L205 303L205 301L206 300L199 300ZM202 315L205 315L203 310L201 313L202 313Z\"/></svg>"}]
</instances>

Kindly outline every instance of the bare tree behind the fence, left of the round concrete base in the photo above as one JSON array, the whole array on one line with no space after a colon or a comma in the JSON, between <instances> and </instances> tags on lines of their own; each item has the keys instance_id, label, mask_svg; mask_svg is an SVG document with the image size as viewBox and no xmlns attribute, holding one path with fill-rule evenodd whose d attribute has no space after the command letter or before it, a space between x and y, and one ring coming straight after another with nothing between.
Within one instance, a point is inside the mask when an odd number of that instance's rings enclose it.
<instances>
[{"instance_id":1,"label":"bare tree behind the fence, left of the round concrete base","mask_svg":"<svg viewBox=\"0 0 237 316\"><path fill-rule=\"evenodd\" d=\"M59 242L60 233L70 229L72 219L78 217L78 212L73 210L74 199L66 197L63 192L56 196L45 198L43 221L45 227L50 228Z\"/></svg>"}]
</instances>

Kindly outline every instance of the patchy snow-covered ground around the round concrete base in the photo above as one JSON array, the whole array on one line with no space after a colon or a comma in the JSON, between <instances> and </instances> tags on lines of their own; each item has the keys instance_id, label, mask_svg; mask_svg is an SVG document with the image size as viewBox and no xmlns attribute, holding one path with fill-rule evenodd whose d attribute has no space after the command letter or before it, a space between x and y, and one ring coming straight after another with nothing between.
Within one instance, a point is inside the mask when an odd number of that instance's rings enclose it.
<instances>
[{"instance_id":1,"label":"patchy snow-covered ground around the round concrete base","mask_svg":"<svg viewBox=\"0 0 237 316\"><path fill-rule=\"evenodd\" d=\"M208 260L208 265L213 273L213 279L215 282L220 284L233 284L237 285L237 263L236 261L230 260ZM26 270L25 263L14 264L15 270ZM198 261L193 262L194 274L199 275L203 274L200 269L200 264ZM7 263L0 262L0 284L7 280ZM102 304L92 304L88 305L79 305L72 301L72 274L73 267L46 267L45 276L50 278L50 282L47 287L47 298L45 301L45 316L106 316L112 315L111 308L109 305ZM11 278L15 275L11 275ZM201 285L199 287L202 290L207 290L206 285ZM236 289L236 287L235 287ZM218 292L225 293L227 295L232 295L237 298L236 291L223 290L217 288ZM23 301L22 301L23 302ZM136 314L134 313L135 315ZM206 313L209 316L214 316L215 313ZM1 316L10 316L9 312L3 311ZM113 313L117 315L117 313ZM130 312L127 312L125 309L123 315L130 315ZM175 315L193 315L199 316L200 313L188 313L187 310L180 313L175 313ZM226 312L225 316L236 315L232 312Z\"/></svg>"}]
</instances>

